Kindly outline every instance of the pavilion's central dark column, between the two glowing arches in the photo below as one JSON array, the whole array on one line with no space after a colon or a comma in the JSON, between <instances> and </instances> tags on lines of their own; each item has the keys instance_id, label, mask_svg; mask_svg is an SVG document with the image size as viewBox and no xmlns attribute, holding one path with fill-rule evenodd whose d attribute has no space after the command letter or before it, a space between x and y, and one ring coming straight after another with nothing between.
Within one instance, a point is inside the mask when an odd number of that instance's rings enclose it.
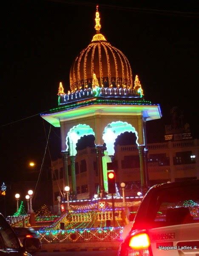
<instances>
[{"instance_id":1,"label":"pavilion's central dark column, between the two glowing arches","mask_svg":"<svg viewBox=\"0 0 199 256\"><path fill-rule=\"evenodd\" d=\"M99 145L99 146L96 146L95 149L97 153L97 169L99 174L99 193L100 193L100 197L102 198L105 195L103 167L102 167L102 157L104 156L105 147L102 145Z\"/></svg>"}]
</instances>

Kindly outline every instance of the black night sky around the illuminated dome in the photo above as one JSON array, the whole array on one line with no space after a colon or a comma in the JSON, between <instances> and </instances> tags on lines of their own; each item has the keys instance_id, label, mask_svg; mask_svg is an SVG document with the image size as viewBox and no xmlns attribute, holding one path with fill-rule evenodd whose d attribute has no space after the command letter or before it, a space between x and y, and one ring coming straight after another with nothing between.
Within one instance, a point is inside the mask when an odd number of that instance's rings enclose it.
<instances>
[{"instance_id":1,"label":"black night sky around the illuminated dome","mask_svg":"<svg viewBox=\"0 0 199 256\"><path fill-rule=\"evenodd\" d=\"M132 2L1 3L0 183L5 181L13 194L14 180L26 180L29 160L40 169L50 125L39 113L57 106L60 81L68 91L71 64L95 34L96 4L102 34L127 56L145 99L162 108L162 119L147 123L148 143L164 140L174 106L198 138L198 2ZM60 130L52 127L44 164L59 156Z\"/></svg>"}]
</instances>

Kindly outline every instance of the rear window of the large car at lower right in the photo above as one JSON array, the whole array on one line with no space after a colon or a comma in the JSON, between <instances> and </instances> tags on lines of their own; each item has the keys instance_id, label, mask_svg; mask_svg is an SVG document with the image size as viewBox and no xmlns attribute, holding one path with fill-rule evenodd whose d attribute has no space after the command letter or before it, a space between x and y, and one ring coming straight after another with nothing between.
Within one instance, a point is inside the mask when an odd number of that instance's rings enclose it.
<instances>
[{"instance_id":1,"label":"rear window of the large car at lower right","mask_svg":"<svg viewBox=\"0 0 199 256\"><path fill-rule=\"evenodd\" d=\"M171 187L151 199L148 223L165 227L199 222L199 187Z\"/></svg>"}]
</instances>

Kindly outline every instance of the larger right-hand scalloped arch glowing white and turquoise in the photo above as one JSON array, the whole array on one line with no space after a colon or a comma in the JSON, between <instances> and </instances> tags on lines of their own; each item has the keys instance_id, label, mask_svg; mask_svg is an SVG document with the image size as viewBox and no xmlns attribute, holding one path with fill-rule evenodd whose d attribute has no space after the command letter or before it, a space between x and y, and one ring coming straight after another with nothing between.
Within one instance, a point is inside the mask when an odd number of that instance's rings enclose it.
<instances>
[{"instance_id":1,"label":"larger right-hand scalloped arch glowing white and turquoise","mask_svg":"<svg viewBox=\"0 0 199 256\"><path fill-rule=\"evenodd\" d=\"M103 136L102 139L104 140L104 142L106 143L106 148L108 151L108 155L114 155L114 142L116 140L116 138L124 133L125 131L132 131L133 133L135 133L136 135L136 144L139 146L138 143L138 133L136 131L136 129L129 124L128 122L122 122L122 121L117 121L117 122L111 122L110 124L108 124L104 131L103 131Z\"/></svg>"}]
</instances>

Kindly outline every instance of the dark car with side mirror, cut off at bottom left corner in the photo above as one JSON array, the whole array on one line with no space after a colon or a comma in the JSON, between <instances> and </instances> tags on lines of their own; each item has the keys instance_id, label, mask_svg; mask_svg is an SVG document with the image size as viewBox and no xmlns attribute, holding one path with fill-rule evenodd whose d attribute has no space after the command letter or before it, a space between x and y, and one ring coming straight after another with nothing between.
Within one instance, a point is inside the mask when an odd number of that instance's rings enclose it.
<instances>
[{"instance_id":1,"label":"dark car with side mirror, cut off at bottom left corner","mask_svg":"<svg viewBox=\"0 0 199 256\"><path fill-rule=\"evenodd\" d=\"M26 239L22 244L12 227L0 213L0 255L31 256L31 252L40 248L40 240L34 237Z\"/></svg>"}]
</instances>

